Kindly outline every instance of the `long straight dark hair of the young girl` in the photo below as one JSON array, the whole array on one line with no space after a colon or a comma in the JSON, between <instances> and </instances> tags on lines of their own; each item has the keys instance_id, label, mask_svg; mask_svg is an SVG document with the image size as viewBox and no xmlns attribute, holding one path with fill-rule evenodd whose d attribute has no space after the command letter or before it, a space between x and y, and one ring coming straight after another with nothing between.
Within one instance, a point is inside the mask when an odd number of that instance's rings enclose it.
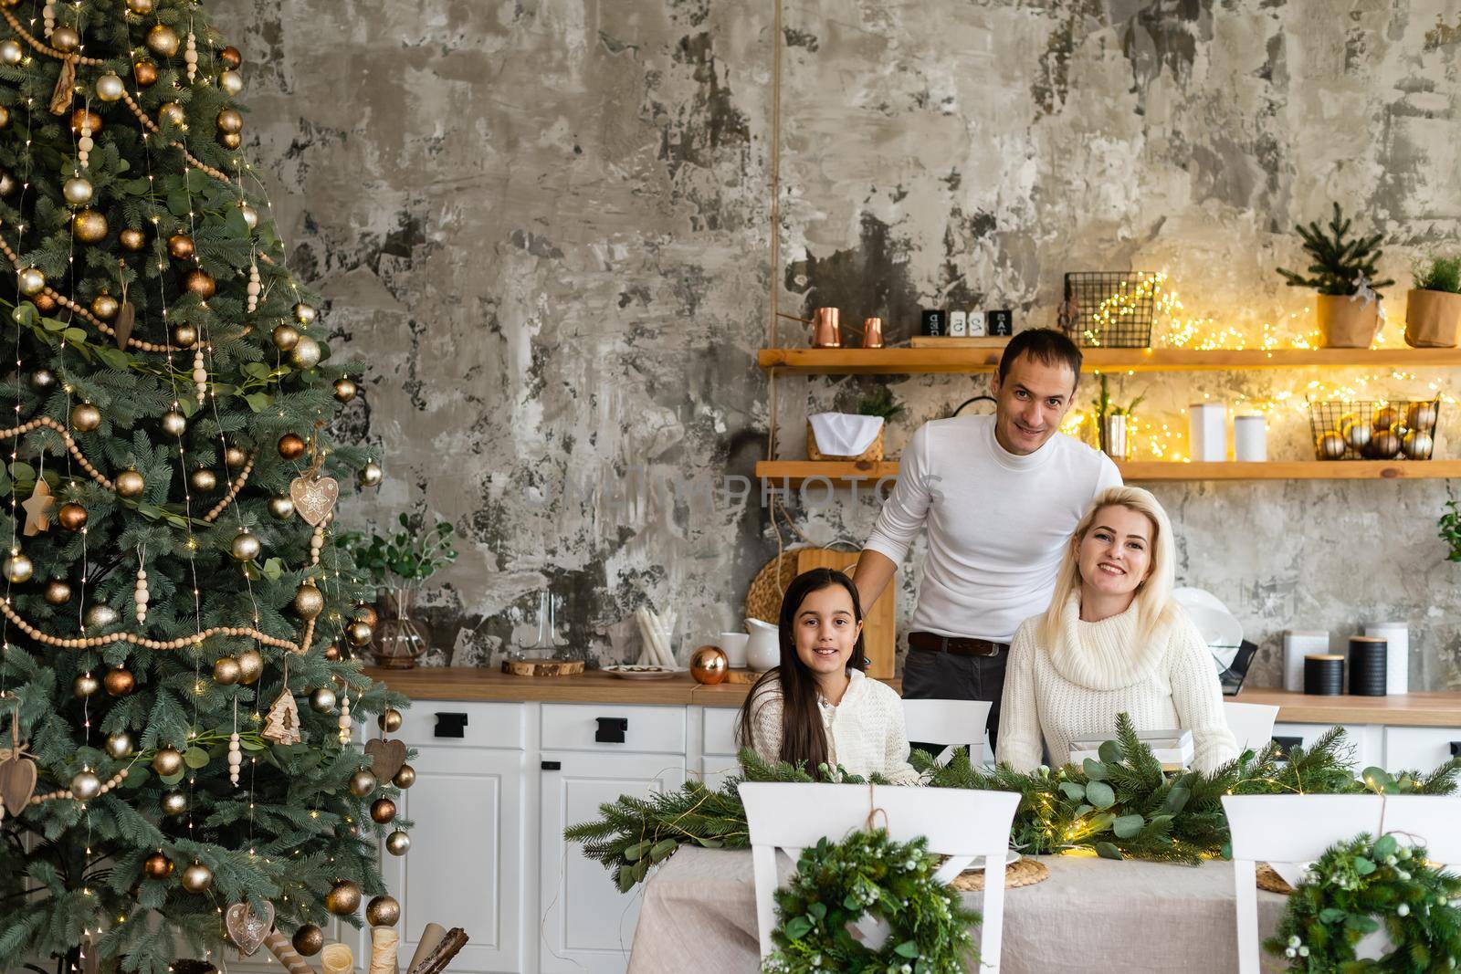
<instances>
[{"instance_id":1,"label":"long straight dark hair of the young girl","mask_svg":"<svg viewBox=\"0 0 1461 974\"><path fill-rule=\"evenodd\" d=\"M768 669L755 682L745 702L741 704L738 730L741 746L749 746L752 740L751 707L757 704L758 691L773 680L780 682L782 689L782 752L779 758L789 764L805 762L806 771L817 774L817 767L827 761L827 735L823 730L821 713L817 707L817 679L812 672L796 656L796 613L802 602L814 591L842 586L852 599L852 615L862 622L862 603L858 600L858 586L852 578L834 568L812 568L804 571L792 580L782 596L780 637L782 662ZM852 647L852 659L847 666L866 670L868 660L863 654L862 632ZM764 701L763 701L764 702Z\"/></svg>"}]
</instances>

